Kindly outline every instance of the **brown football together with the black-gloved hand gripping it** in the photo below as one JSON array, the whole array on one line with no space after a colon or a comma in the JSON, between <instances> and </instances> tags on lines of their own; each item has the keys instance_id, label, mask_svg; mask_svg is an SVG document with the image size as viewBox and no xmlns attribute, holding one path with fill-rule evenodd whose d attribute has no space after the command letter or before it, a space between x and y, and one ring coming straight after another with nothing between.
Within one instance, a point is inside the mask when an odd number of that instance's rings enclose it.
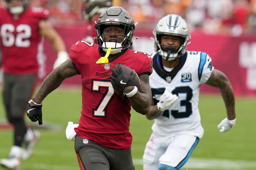
<instances>
[{"instance_id":1,"label":"brown football together with the black-gloved hand gripping it","mask_svg":"<svg viewBox=\"0 0 256 170\"><path fill-rule=\"evenodd\" d=\"M136 86L138 89L140 87L140 79L137 73L130 67L117 64L112 68L112 74L110 75L111 84L114 88L115 93L122 97L123 99L128 99L124 95L124 88L128 86Z\"/></svg>"}]
</instances>

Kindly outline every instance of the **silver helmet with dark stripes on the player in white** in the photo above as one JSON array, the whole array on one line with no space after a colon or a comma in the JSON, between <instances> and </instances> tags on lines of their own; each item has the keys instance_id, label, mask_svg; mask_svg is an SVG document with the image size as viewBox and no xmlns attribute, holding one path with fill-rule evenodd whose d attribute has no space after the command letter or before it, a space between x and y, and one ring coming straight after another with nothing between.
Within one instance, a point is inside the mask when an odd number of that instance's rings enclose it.
<instances>
[{"instance_id":1,"label":"silver helmet with dark stripes on the player in white","mask_svg":"<svg viewBox=\"0 0 256 170\"><path fill-rule=\"evenodd\" d=\"M191 38L188 24L181 16L175 14L169 14L160 19L153 31L153 35L155 39L155 51L168 61L184 55L187 50L186 45ZM162 35L181 37L180 46L161 44Z\"/></svg>"}]
</instances>

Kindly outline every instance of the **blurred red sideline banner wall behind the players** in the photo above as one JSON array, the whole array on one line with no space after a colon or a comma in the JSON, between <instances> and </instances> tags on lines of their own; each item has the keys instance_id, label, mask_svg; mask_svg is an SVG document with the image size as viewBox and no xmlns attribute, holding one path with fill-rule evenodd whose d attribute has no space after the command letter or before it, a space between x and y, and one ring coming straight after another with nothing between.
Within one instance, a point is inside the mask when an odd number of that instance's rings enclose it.
<instances>
[{"instance_id":1,"label":"blurred red sideline banner wall behind the players","mask_svg":"<svg viewBox=\"0 0 256 170\"><path fill-rule=\"evenodd\" d=\"M71 46L83 38L84 26L55 28L63 38L69 52ZM132 48L137 51L154 52L152 30L137 29L133 36ZM191 33L189 51L203 51L210 55L215 69L222 71L229 78L235 95L256 95L256 36L244 35L207 35ZM56 53L49 42L43 42L41 82L52 71ZM45 62L45 63L44 63ZM80 75L64 80L64 84L81 84ZM201 93L219 93L219 89L203 84Z\"/></svg>"}]
</instances>

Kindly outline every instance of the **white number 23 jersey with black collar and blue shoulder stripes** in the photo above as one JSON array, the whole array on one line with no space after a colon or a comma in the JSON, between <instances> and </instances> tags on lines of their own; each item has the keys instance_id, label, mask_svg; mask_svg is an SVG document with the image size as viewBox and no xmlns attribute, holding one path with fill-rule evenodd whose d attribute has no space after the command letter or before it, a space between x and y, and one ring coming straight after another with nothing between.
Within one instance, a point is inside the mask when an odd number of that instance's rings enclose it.
<instances>
[{"instance_id":1,"label":"white number 23 jersey with black collar and blue shoulder stripes","mask_svg":"<svg viewBox=\"0 0 256 170\"><path fill-rule=\"evenodd\" d=\"M153 132L160 135L192 134L201 138L204 129L198 109L199 89L205 83L214 67L210 56L201 51L187 51L180 63L168 72L163 69L161 56L152 54L153 73L149 76L152 97L155 104L169 86L169 91L179 98L155 119Z\"/></svg>"}]
</instances>

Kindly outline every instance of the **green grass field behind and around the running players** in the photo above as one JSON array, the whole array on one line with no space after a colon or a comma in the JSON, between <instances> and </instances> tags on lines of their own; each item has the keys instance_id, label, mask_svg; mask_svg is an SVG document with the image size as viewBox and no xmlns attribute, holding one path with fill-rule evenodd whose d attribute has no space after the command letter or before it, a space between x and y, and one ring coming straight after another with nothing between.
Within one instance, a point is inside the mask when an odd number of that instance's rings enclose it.
<instances>
[{"instance_id":1,"label":"green grass field behind and around the running players","mask_svg":"<svg viewBox=\"0 0 256 170\"><path fill-rule=\"evenodd\" d=\"M0 87L1 90L1 87ZM236 125L219 132L217 125L226 117L220 95L201 95L199 101L204 136L183 168L189 170L255 170L256 169L256 98L236 98ZM43 101L43 125L37 128L41 140L34 156L22 161L21 170L79 170L74 142L66 139L68 121L78 123L81 111L80 89L60 88ZM0 98L0 119L6 122ZM26 122L38 127L28 118ZM142 155L154 121L132 111L130 131L132 155L136 170L142 170ZM0 158L8 156L12 145L11 129L0 129ZM4 168L0 167L0 170Z\"/></svg>"}]
</instances>

